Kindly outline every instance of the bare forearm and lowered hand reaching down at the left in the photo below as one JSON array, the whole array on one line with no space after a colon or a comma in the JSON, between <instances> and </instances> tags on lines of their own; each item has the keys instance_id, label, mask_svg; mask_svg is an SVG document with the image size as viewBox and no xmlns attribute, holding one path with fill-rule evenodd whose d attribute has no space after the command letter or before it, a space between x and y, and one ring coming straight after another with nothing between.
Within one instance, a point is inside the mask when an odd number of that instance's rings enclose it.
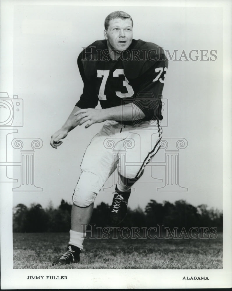
<instances>
[{"instance_id":1,"label":"bare forearm and lowered hand reaching down at the left","mask_svg":"<svg viewBox=\"0 0 232 291\"><path fill-rule=\"evenodd\" d=\"M74 129L78 125L74 114L79 110L80 108L75 106L72 112L70 113L68 119L66 120L65 124L61 127L61 129L59 129L52 135L50 145L53 148L57 148L59 145L61 145L61 143L63 142L60 140L64 139L68 135L68 132L70 132L70 130Z\"/></svg>"}]
</instances>

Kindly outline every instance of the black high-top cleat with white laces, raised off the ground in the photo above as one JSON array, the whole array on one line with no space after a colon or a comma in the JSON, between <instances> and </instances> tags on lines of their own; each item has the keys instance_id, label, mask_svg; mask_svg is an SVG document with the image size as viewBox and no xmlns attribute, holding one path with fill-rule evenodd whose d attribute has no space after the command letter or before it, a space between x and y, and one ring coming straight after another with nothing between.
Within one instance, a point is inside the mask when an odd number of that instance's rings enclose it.
<instances>
[{"instance_id":1,"label":"black high-top cleat with white laces, raised off the ground","mask_svg":"<svg viewBox=\"0 0 232 291\"><path fill-rule=\"evenodd\" d=\"M125 219L127 214L127 202L130 196L129 191L119 191L116 187L116 192L113 192L114 198L109 209L108 225L116 226Z\"/></svg>"}]
</instances>

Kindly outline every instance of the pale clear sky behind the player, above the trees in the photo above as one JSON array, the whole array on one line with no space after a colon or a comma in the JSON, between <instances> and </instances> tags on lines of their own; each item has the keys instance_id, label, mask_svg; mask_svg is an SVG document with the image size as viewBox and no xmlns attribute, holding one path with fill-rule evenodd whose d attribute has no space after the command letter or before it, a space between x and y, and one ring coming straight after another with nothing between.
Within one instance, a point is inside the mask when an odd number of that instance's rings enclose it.
<instances>
[{"instance_id":1,"label":"pale clear sky behind the player, above the trees","mask_svg":"<svg viewBox=\"0 0 232 291\"><path fill-rule=\"evenodd\" d=\"M8 136L7 155L8 161L12 155L13 162L20 162L20 150L11 145L14 138L41 139L42 147L34 150L34 185L43 191L13 191L13 206L52 203L56 207L61 199L71 203L82 157L102 124L75 128L58 149L50 146L50 137L65 123L82 93L78 54L82 47L104 38L105 17L121 9L14 6L13 90L2 86L1 92L23 99L23 126L14 127L18 132ZM176 50L177 60L169 61L163 90L163 138L169 142L184 139L187 145L178 150L179 185L187 191L157 190L165 186L165 166L158 165L165 162L167 151L163 149L134 185L128 205L144 209L150 199L159 203L183 199L194 206L207 204L222 210L222 8L130 6L123 10L132 16L134 39L154 42L171 55ZM187 59L180 58L183 50ZM193 59L199 56L196 61L189 57L192 50ZM18 179L13 187L19 187L20 166L8 166L7 171L8 177ZM95 205L111 204L111 186L109 178Z\"/></svg>"}]
</instances>

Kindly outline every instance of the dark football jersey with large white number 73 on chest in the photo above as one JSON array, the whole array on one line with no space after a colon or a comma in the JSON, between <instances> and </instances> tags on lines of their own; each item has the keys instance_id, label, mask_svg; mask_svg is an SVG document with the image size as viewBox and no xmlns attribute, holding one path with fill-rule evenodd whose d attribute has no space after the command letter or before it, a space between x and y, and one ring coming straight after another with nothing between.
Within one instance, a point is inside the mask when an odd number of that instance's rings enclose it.
<instances>
[{"instance_id":1,"label":"dark football jersey with large white number 73 on chest","mask_svg":"<svg viewBox=\"0 0 232 291\"><path fill-rule=\"evenodd\" d=\"M134 103L145 114L143 121L162 120L162 90L168 61L161 47L142 40L132 40L117 60L112 60L107 41L86 47L77 59L84 82L76 106L103 109ZM132 124L124 121L124 124Z\"/></svg>"}]
</instances>

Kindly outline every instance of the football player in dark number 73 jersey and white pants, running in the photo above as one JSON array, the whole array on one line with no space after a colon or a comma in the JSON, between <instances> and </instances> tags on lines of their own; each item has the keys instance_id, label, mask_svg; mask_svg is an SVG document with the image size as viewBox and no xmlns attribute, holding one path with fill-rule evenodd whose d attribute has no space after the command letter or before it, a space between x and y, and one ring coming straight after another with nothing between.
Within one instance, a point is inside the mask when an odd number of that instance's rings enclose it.
<instances>
[{"instance_id":1,"label":"football player in dark number 73 jersey and white pants, running","mask_svg":"<svg viewBox=\"0 0 232 291\"><path fill-rule=\"evenodd\" d=\"M134 40L132 29L130 15L110 13L105 19L105 40L93 42L77 59L83 93L50 144L57 148L77 125L105 123L84 154L72 196L68 249L53 264L79 262L85 237L82 224L88 225L95 197L114 171L119 181L108 224L116 226L125 218L130 189L160 147L161 95L168 61L161 47ZM95 109L98 100L102 109Z\"/></svg>"}]
</instances>

